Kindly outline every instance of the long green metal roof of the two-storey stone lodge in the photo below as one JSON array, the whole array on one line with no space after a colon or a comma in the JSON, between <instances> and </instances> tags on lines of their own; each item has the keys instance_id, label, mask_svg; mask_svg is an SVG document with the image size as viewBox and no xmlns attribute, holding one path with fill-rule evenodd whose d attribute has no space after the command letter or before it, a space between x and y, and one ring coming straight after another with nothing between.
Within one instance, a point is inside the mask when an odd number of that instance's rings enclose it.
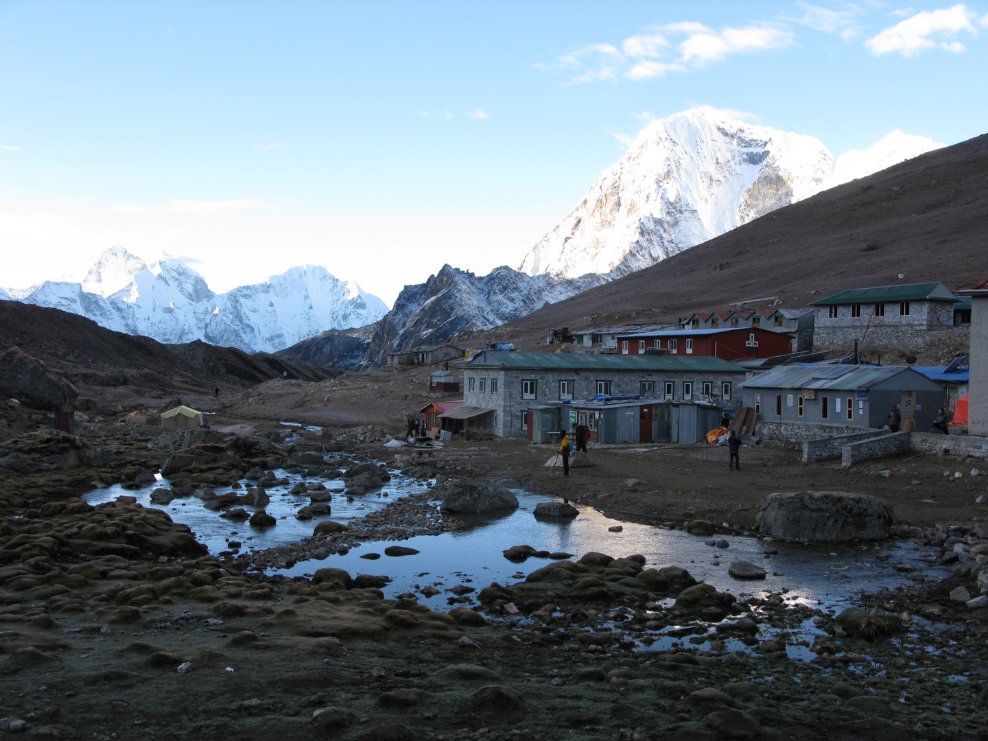
<instances>
[{"instance_id":1,"label":"long green metal roof of the two-storey stone lodge","mask_svg":"<svg viewBox=\"0 0 988 741\"><path fill-rule=\"evenodd\" d=\"M697 356L599 355L593 353L506 353L485 350L463 365L472 368L568 370L568 371L695 371L734 372L744 369L734 363Z\"/></svg>"}]
</instances>

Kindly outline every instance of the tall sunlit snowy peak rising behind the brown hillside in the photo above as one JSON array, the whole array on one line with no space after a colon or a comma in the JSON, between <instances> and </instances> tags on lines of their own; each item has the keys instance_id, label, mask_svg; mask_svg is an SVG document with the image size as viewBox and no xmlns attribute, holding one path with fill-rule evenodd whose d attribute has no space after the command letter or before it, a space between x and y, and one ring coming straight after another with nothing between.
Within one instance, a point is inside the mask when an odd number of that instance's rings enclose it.
<instances>
[{"instance_id":1,"label":"tall sunlit snowy peak rising behind the brown hillside","mask_svg":"<svg viewBox=\"0 0 988 741\"><path fill-rule=\"evenodd\" d=\"M893 131L834 157L819 139L703 107L643 128L525 256L531 276L619 278L781 206L944 146Z\"/></svg>"}]
</instances>

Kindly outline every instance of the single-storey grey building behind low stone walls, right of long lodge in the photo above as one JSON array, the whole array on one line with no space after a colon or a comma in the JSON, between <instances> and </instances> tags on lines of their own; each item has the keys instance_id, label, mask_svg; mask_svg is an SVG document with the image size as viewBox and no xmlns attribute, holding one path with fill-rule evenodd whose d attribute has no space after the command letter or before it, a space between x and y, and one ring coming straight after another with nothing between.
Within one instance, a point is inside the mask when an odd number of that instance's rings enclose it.
<instances>
[{"instance_id":1,"label":"single-storey grey building behind low stone walls, right of long lodge","mask_svg":"<svg viewBox=\"0 0 988 741\"><path fill-rule=\"evenodd\" d=\"M928 432L944 404L940 383L905 366L780 366L741 389L756 434L789 440L880 429L893 405L901 429Z\"/></svg>"}]
</instances>

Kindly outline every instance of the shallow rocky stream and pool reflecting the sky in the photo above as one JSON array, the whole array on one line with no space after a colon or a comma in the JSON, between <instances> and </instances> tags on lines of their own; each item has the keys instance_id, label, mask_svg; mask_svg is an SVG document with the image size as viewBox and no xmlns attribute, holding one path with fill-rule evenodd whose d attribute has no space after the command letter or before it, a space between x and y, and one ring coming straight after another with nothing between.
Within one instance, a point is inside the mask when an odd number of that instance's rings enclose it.
<instances>
[{"instance_id":1,"label":"shallow rocky stream and pool reflecting the sky","mask_svg":"<svg viewBox=\"0 0 988 741\"><path fill-rule=\"evenodd\" d=\"M188 525L212 553L226 550L229 540L241 541L244 549L262 549L308 537L317 522L327 519L324 516L297 521L293 517L295 511L308 504L309 500L305 495L288 494L288 488L299 480L314 483L318 478L303 479L284 469L274 472L279 478L288 478L289 483L267 489L271 503L265 509L278 518L278 525L266 530L252 528L246 522L220 518L219 513L206 510L202 506L204 503L195 497L176 499L163 506L153 504L150 494L155 485L135 491L115 485L90 492L85 499L91 504L99 504L121 495L134 496L140 504L162 509L175 522ZM330 490L342 489L344 485L339 479L322 482ZM391 481L378 492L359 497L334 493L330 502L332 514L328 518L348 523L386 507L395 498L427 488L424 482L404 476L400 471L392 471ZM383 552L387 545L392 544L390 541L366 541L345 555L332 554L321 560L301 561L291 568L273 570L271 573L290 577L311 574L324 566L334 566L354 575L380 574L391 579L384 589L386 597L410 591L419 593L424 587L433 585L441 590L439 595L419 597L433 610L448 609L447 600L452 595L447 590L457 584L468 584L478 592L493 581L510 585L550 562L548 559L529 558L524 563L516 564L504 558L503 550L520 544L531 545L536 550L565 551L576 556L592 550L616 557L640 553L646 558L646 567L682 566L698 581L728 591L739 599L784 591L787 603L803 602L828 611L851 606L857 591L875 592L882 588L913 584L924 576L939 579L947 575L947 570L940 568L936 558L932 557L934 553L931 549L921 548L911 540L883 543L882 547L892 554L886 561L875 559L875 546L870 544L820 546L774 541L771 546L779 552L766 557L764 551L768 543L756 537L690 535L683 531L618 523L589 507L579 507L580 515L573 520L539 520L532 514L535 505L551 498L514 486L511 488L520 502L518 510L484 516L458 515L457 519L466 525L462 530L442 535L419 535L401 541L402 545L418 549L418 554L389 557ZM222 491L217 490L217 494ZM254 510L253 507L244 509L248 512ZM618 524L622 527L621 532L609 532L609 528ZM706 544L712 539L721 538L728 541L728 547ZM361 557L367 553L378 553L380 558L369 560ZM727 568L735 560L748 560L761 565L768 575L758 581L734 579L728 575ZM812 633L819 632L819 629L813 626L811 619L807 619L800 632L811 640ZM660 635L650 648L676 647L682 640L685 639ZM732 645L735 642L738 646ZM743 646L739 641L728 641L727 650L733 648ZM788 651L792 658L813 657L798 645L789 646Z\"/></svg>"}]
</instances>

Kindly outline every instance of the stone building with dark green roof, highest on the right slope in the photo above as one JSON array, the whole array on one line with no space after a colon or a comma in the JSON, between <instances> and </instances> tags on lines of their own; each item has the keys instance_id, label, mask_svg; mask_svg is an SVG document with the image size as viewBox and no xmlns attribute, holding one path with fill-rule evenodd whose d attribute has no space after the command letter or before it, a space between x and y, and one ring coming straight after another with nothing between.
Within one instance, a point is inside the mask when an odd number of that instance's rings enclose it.
<instances>
[{"instance_id":1,"label":"stone building with dark green roof, highest on the right slope","mask_svg":"<svg viewBox=\"0 0 988 741\"><path fill-rule=\"evenodd\" d=\"M968 325L954 324L960 299L942 283L851 288L814 301L813 345L839 349L920 351L935 343L967 345Z\"/></svg>"}]
</instances>

